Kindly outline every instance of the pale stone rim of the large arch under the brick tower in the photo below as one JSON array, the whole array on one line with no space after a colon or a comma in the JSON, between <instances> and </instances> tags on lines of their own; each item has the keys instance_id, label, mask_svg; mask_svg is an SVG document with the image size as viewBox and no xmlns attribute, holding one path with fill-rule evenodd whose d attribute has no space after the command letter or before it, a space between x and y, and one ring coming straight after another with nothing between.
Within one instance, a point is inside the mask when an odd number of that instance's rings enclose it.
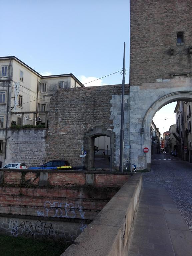
<instances>
[{"instance_id":1,"label":"pale stone rim of the large arch under the brick tower","mask_svg":"<svg viewBox=\"0 0 192 256\"><path fill-rule=\"evenodd\" d=\"M183 102L192 102L192 92L191 91L180 91L175 93L170 93L168 95L163 96L156 102L154 102L150 108L147 110L144 119L143 119L143 145L149 148L149 154L145 154L146 158L146 169L151 168L151 122L155 115L155 113L160 110L163 106L175 102L175 101L183 101ZM183 133L184 137L184 133Z\"/></svg>"}]
</instances>

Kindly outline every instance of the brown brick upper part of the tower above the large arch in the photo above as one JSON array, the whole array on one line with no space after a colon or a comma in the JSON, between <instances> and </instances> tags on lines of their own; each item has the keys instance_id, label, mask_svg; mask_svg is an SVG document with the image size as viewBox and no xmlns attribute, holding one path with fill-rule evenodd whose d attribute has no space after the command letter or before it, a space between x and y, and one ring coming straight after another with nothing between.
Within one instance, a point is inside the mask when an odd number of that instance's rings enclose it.
<instances>
[{"instance_id":1,"label":"brown brick upper part of the tower above the large arch","mask_svg":"<svg viewBox=\"0 0 192 256\"><path fill-rule=\"evenodd\" d=\"M191 73L191 8L190 0L130 1L130 85ZM177 45L178 31L184 32L184 45Z\"/></svg>"}]
</instances>

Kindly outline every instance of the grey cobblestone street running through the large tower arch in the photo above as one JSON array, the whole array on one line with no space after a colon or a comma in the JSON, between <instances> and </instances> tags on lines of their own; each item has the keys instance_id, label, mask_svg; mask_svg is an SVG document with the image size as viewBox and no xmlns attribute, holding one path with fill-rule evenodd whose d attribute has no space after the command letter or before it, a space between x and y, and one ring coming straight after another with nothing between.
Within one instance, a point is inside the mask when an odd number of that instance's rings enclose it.
<instances>
[{"instance_id":1,"label":"grey cobblestone street running through the large tower arch","mask_svg":"<svg viewBox=\"0 0 192 256\"><path fill-rule=\"evenodd\" d=\"M143 179L163 186L192 232L192 164L170 154L153 155L152 171Z\"/></svg>"}]
</instances>

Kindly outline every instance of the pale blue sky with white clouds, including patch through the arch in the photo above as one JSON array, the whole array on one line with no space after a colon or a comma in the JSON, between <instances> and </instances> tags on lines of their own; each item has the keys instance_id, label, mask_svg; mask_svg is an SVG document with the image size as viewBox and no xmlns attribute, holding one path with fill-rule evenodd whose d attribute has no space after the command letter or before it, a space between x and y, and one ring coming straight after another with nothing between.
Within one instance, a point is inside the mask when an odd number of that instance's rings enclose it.
<instances>
[{"instance_id":1,"label":"pale blue sky with white clouds, including patch through the arch","mask_svg":"<svg viewBox=\"0 0 192 256\"><path fill-rule=\"evenodd\" d=\"M129 0L0 0L0 7L0 56L42 75L73 73L85 86L121 84L125 42L129 83ZM174 123L175 107L164 108L154 117L162 134Z\"/></svg>"}]
</instances>

